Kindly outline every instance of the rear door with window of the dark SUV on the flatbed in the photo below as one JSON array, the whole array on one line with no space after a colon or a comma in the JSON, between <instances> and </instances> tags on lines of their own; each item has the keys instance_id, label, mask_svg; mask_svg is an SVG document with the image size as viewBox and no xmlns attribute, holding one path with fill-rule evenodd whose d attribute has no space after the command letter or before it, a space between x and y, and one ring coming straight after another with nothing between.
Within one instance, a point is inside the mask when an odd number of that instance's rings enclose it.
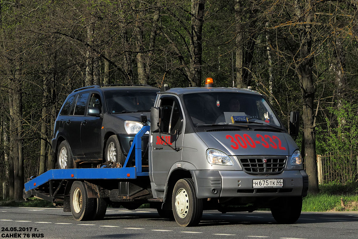
<instances>
[{"instance_id":1,"label":"rear door with window of the dark SUV on the flatbed","mask_svg":"<svg viewBox=\"0 0 358 239\"><path fill-rule=\"evenodd\" d=\"M73 157L83 156L81 148L81 123L84 120L89 93L78 94L76 104L64 122L63 133Z\"/></svg>"}]
</instances>

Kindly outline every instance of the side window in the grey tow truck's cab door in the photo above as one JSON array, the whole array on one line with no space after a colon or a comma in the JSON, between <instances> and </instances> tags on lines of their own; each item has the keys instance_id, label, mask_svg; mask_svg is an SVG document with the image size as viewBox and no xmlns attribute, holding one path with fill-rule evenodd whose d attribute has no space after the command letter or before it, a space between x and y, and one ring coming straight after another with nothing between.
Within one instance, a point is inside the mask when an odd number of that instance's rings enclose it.
<instances>
[{"instance_id":1,"label":"side window in the grey tow truck's cab door","mask_svg":"<svg viewBox=\"0 0 358 239\"><path fill-rule=\"evenodd\" d=\"M163 107L163 133L174 134L175 130L182 130L183 117L178 103L174 99L161 99L160 106Z\"/></svg>"}]
</instances>

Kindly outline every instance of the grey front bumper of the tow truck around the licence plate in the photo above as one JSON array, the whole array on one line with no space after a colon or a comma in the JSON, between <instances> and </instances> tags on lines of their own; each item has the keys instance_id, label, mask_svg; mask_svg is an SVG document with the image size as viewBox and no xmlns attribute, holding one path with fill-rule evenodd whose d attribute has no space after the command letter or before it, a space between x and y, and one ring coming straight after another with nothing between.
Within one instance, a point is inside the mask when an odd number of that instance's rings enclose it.
<instances>
[{"instance_id":1,"label":"grey front bumper of the tow truck around the licence plate","mask_svg":"<svg viewBox=\"0 0 358 239\"><path fill-rule=\"evenodd\" d=\"M252 180L282 179L282 188L253 188ZM250 175L244 171L195 170L193 180L198 198L302 196L308 191L304 170L285 170L279 175Z\"/></svg>"}]
</instances>

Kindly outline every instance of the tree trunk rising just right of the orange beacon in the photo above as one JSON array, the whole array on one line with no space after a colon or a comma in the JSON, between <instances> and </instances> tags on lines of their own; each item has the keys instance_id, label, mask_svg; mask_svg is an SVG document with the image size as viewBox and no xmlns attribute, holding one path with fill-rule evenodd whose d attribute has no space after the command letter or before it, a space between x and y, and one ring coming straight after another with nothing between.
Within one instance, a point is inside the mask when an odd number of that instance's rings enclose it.
<instances>
[{"instance_id":1,"label":"tree trunk rising just right of the orange beacon","mask_svg":"<svg viewBox=\"0 0 358 239\"><path fill-rule=\"evenodd\" d=\"M236 87L247 88L243 79L242 79L242 46L243 46L243 33L242 33L242 25L241 25L241 0L235 1L235 20L236 20L236 39L235 39L235 54L236 54Z\"/></svg>"}]
</instances>

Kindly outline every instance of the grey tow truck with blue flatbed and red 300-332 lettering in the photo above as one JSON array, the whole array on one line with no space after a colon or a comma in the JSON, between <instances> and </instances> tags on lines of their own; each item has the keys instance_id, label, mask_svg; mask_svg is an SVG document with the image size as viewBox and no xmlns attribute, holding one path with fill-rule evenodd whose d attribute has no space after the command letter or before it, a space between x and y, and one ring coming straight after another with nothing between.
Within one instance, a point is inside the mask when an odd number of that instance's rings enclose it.
<instances>
[{"instance_id":1,"label":"grey tow truck with blue flatbed and red 300-332 lettering","mask_svg":"<svg viewBox=\"0 0 358 239\"><path fill-rule=\"evenodd\" d=\"M298 133L299 114L291 112L289 134L261 94L210 83L164 87L124 165L52 169L25 183L24 198L63 205L75 220L100 220L109 204L149 204L180 226L197 225L208 209L269 208L278 223L295 223L308 191L290 136ZM143 161L141 137L148 132Z\"/></svg>"}]
</instances>

